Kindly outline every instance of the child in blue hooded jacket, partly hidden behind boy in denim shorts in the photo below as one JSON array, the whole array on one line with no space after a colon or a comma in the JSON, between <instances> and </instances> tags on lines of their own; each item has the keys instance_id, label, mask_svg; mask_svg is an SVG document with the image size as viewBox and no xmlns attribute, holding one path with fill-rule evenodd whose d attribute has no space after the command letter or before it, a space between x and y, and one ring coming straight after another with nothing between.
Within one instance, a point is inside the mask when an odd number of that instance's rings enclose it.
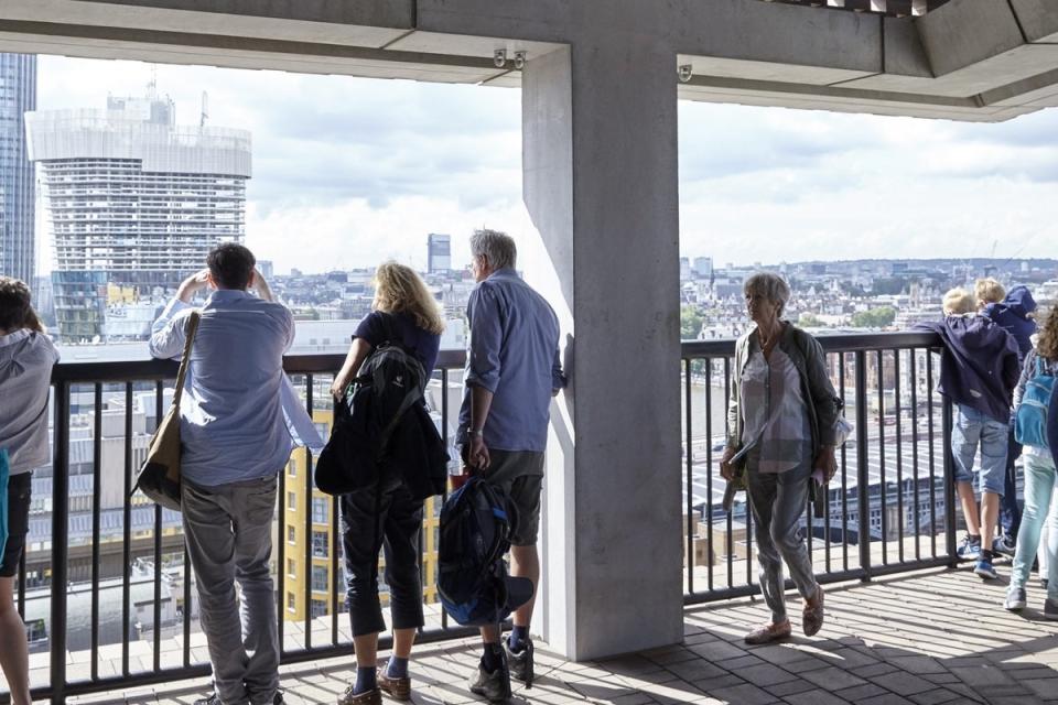
<instances>
[{"instance_id":1,"label":"child in blue hooded jacket, partly hidden behind boy in denim shorts","mask_svg":"<svg viewBox=\"0 0 1058 705\"><path fill-rule=\"evenodd\" d=\"M979 279L974 284L978 308L994 321L1017 341L1018 365L1025 361L1025 355L1033 349L1032 336L1036 333L1036 301L1027 286L1015 286L1004 292L1003 285L992 278ZM993 551L1014 555L1017 544L1017 530L1022 523L1022 508L1017 503L1017 471L1014 462L1022 455L1022 446L1014 438L1014 416L1006 437L1006 478L1003 501L1000 506L1000 536L993 544Z\"/></svg>"}]
</instances>

